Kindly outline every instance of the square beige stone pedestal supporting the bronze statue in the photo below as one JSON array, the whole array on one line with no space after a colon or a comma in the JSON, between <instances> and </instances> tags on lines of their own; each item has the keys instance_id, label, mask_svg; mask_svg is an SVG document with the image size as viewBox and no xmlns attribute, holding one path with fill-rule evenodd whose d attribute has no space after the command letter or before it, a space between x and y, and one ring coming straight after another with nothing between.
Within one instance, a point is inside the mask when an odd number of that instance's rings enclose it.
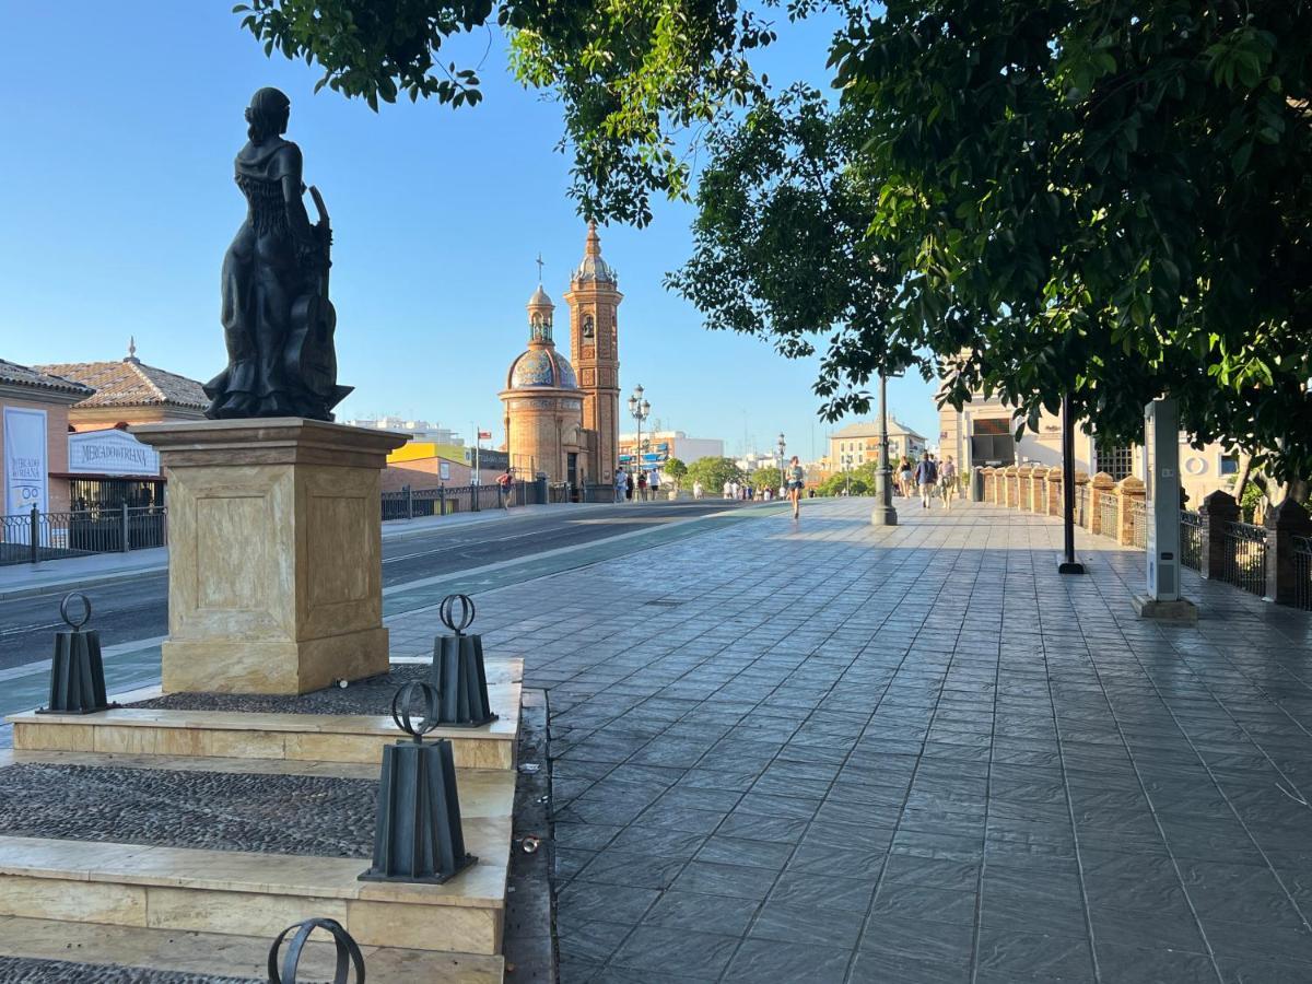
<instances>
[{"instance_id":1,"label":"square beige stone pedestal supporting the bronze statue","mask_svg":"<svg viewBox=\"0 0 1312 984\"><path fill-rule=\"evenodd\" d=\"M386 673L382 468L400 434L299 417L147 424L168 476L164 691Z\"/></svg>"}]
</instances>

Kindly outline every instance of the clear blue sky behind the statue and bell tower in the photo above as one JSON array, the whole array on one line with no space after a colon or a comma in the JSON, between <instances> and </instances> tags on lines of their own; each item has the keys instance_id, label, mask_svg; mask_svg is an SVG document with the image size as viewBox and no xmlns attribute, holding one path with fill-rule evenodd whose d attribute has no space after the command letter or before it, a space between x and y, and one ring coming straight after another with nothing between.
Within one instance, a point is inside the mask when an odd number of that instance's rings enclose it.
<instances>
[{"instance_id":1,"label":"clear blue sky behind the statue and bell tower","mask_svg":"<svg viewBox=\"0 0 1312 984\"><path fill-rule=\"evenodd\" d=\"M496 392L527 337L523 304L546 260L563 306L584 224L555 151L560 109L504 70L488 47L474 109L386 106L324 91L303 62L269 59L227 3L26 4L0 38L0 357L21 363L121 358L135 335L152 365L209 379L224 363L219 264L241 223L232 157L241 112L261 85L291 97L306 181L332 213L338 419L398 413L501 438ZM829 30L783 25L760 66L771 83L825 81ZM58 39L58 41L56 41ZM491 43L489 43L491 42ZM63 54L59 54L59 52ZM112 52L91 58L89 52ZM663 426L819 455L815 365L702 328L661 286L689 255L691 210L661 202L644 230L602 230L618 269L621 386L647 390ZM558 324L564 321L558 319ZM934 440L932 390L895 380L897 416Z\"/></svg>"}]
</instances>

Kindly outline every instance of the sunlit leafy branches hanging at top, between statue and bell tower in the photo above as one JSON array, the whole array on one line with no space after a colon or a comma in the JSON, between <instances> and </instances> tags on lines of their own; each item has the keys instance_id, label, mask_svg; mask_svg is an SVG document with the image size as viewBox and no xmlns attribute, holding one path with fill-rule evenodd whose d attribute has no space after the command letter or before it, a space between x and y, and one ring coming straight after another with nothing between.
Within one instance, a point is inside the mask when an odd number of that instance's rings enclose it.
<instances>
[{"instance_id":1,"label":"sunlit leafy branches hanging at top, between statue and bell tower","mask_svg":"<svg viewBox=\"0 0 1312 984\"><path fill-rule=\"evenodd\" d=\"M234 10L265 54L318 64L316 89L375 110L399 96L476 105L478 66L449 52L480 62L484 46L461 35L504 30L516 77L562 102L580 210L638 224L652 193L686 193L680 135L760 91L747 55L774 39L736 0L245 0Z\"/></svg>"}]
</instances>

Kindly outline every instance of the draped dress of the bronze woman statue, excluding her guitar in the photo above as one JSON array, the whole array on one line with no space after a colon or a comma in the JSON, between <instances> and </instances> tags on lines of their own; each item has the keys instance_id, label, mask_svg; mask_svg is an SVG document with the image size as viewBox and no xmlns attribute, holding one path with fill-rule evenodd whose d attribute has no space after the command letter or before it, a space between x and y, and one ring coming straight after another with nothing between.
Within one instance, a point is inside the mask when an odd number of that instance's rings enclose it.
<instances>
[{"instance_id":1,"label":"draped dress of the bronze woman statue, excluding her guitar","mask_svg":"<svg viewBox=\"0 0 1312 984\"><path fill-rule=\"evenodd\" d=\"M249 206L223 257L223 333L228 366L205 387L211 417L295 415L283 366L291 306L304 273L287 222L282 178L300 182L299 148L282 139L248 143L236 157L237 188Z\"/></svg>"}]
</instances>

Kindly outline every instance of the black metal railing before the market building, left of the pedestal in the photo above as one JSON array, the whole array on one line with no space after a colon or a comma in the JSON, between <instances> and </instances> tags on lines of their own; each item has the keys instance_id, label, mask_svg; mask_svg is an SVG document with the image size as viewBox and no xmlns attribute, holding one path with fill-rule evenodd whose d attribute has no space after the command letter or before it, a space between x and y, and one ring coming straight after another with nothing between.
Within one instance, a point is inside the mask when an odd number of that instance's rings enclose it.
<instances>
[{"instance_id":1,"label":"black metal railing before the market building, left of the pedestal","mask_svg":"<svg viewBox=\"0 0 1312 984\"><path fill-rule=\"evenodd\" d=\"M121 505L0 516L0 564L34 564L91 554L168 546L165 506Z\"/></svg>"}]
</instances>

